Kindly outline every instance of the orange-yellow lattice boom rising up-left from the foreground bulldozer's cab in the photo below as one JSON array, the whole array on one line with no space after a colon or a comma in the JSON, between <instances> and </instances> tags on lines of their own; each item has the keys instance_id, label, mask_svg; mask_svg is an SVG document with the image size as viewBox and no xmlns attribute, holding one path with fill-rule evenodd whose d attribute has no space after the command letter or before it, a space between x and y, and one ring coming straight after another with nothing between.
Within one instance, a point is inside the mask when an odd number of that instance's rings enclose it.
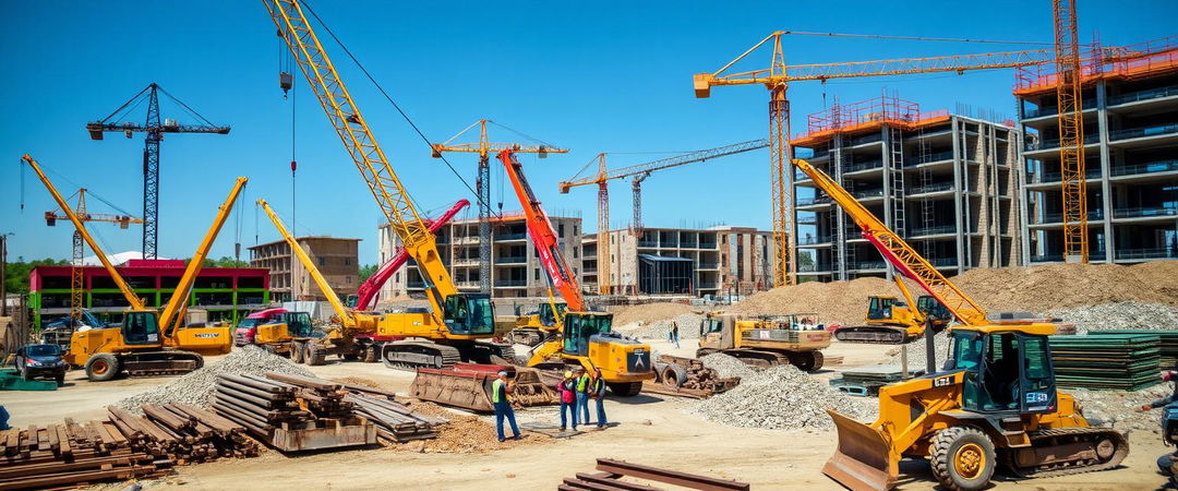
<instances>
[{"instance_id":1,"label":"orange-yellow lattice boom rising up-left from the foreground bulldozer's cab","mask_svg":"<svg viewBox=\"0 0 1178 491\"><path fill-rule=\"evenodd\" d=\"M826 172L812 166L806 160L793 159L793 164L813 179L814 185L829 195L843 212L851 215L855 225L859 225L863 238L880 251L880 254L892 264L892 267L895 267L898 272L916 281L928 294L939 300L941 305L945 305L953 313L953 317L962 324L986 324L986 311L978 303L966 296L953 281L945 278L933 265L928 264L916 250L912 248L900 235L896 235L895 232L888 228L884 221L880 221L875 214L860 204L839 183L835 183ZM908 292L902 286L904 284L899 279L896 279L896 284L901 286L905 299L912 301L912 296L907 294Z\"/></svg>"}]
</instances>

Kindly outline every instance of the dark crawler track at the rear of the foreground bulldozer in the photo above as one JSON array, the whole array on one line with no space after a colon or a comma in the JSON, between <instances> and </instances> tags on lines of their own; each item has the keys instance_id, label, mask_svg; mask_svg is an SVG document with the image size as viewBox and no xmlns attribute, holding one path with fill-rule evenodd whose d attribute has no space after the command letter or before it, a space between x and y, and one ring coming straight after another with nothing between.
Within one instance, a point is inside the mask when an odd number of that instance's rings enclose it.
<instances>
[{"instance_id":1,"label":"dark crawler track at the rear of the foreground bulldozer","mask_svg":"<svg viewBox=\"0 0 1178 491\"><path fill-rule=\"evenodd\" d=\"M1006 452L1017 477L1053 477L1116 469L1129 456L1129 438L1111 427L1059 427L1027 433L1031 447ZM1081 452L1077 453L1077 449ZM1019 458L1019 452L1032 452ZM1070 454L1073 459L1026 465L1034 454ZM1023 465L1020 465L1023 464Z\"/></svg>"}]
</instances>

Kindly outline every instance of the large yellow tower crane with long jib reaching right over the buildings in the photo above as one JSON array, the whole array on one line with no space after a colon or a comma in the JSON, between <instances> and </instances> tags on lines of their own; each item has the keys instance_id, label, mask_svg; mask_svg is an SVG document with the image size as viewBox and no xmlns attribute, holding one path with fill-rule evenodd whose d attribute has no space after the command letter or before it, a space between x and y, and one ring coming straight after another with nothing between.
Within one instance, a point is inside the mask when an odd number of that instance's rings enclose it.
<instances>
[{"instance_id":1,"label":"large yellow tower crane with long jib reaching right over the buildings","mask_svg":"<svg viewBox=\"0 0 1178 491\"><path fill-rule=\"evenodd\" d=\"M781 37L786 34L789 33L786 31L774 32L720 69L712 73L697 73L693 79L696 98L710 97L712 87L715 86L763 85L769 89L769 192L773 198L773 239L776 245L774 251L774 286L796 283L796 260L793 244L796 212L792 192L794 174L789 171L788 162L792 152L789 150L789 100L786 98L789 82L805 80L825 82L846 78L916 73L964 73L977 69L1043 65L1055 59L1054 49L1031 49L789 66L786 65L785 53L781 48ZM768 68L729 72L733 65L765 45L773 46ZM1080 165L1083 166L1083 162Z\"/></svg>"}]
</instances>

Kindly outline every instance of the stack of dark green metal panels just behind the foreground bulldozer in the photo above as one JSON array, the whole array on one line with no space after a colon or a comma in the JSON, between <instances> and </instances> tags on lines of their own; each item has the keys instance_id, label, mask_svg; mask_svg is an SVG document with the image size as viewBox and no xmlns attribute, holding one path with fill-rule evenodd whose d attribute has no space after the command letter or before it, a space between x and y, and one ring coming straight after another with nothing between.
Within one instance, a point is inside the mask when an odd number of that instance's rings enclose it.
<instances>
[{"instance_id":1,"label":"stack of dark green metal panels just behind the foreground bulldozer","mask_svg":"<svg viewBox=\"0 0 1178 491\"><path fill-rule=\"evenodd\" d=\"M1052 336L1060 387L1136 391L1160 381L1160 338L1147 334Z\"/></svg>"}]
</instances>

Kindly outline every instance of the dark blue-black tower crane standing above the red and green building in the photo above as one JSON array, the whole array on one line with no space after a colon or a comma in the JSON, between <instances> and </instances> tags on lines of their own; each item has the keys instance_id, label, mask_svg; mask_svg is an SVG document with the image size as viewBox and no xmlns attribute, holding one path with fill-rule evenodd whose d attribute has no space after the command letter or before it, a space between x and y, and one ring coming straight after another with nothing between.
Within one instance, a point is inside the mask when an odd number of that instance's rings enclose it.
<instances>
[{"instance_id":1,"label":"dark blue-black tower crane standing above the red and green building","mask_svg":"<svg viewBox=\"0 0 1178 491\"><path fill-rule=\"evenodd\" d=\"M177 120L159 115L159 93L164 93L180 105L200 122L197 125L180 125ZM146 100L147 121L143 125L137 122L119 122L126 112L134 110ZM104 133L124 133L131 138L133 133L145 133L144 138L144 259L155 259L155 243L159 239L159 142L164 140L164 133L213 133L229 134L229 126L218 126L210 122L205 117L193 111L188 105L181 102L172 94L167 93L158 84L151 82L146 88L139 91L131 100L114 110L111 115L101 120L87 122L86 131L92 140L101 140Z\"/></svg>"}]
</instances>

